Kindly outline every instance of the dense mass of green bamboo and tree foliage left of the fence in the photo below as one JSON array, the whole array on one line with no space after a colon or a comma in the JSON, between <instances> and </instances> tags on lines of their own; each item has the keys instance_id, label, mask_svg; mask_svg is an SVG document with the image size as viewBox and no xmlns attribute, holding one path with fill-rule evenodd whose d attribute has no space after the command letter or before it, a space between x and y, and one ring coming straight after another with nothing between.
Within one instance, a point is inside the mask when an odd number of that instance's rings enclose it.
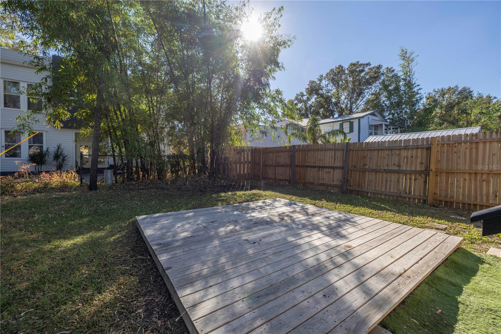
<instances>
[{"instance_id":1,"label":"dense mass of green bamboo and tree foliage left of the fence","mask_svg":"<svg viewBox=\"0 0 501 334\"><path fill-rule=\"evenodd\" d=\"M110 139L128 180L139 178L136 159L143 177L164 178L168 146L186 154L189 174L208 166L216 173L220 146L235 142L236 128L252 132L294 117L282 92L270 88L284 69L280 52L294 40L278 31L283 8L263 13L262 37L249 41L239 30L252 14L247 5L3 2L40 48L32 65L53 72L33 88L42 109L20 115L18 127L30 130L38 115L55 127L76 117L82 133L93 133L92 146ZM96 171L93 155L92 189Z\"/></svg>"}]
</instances>

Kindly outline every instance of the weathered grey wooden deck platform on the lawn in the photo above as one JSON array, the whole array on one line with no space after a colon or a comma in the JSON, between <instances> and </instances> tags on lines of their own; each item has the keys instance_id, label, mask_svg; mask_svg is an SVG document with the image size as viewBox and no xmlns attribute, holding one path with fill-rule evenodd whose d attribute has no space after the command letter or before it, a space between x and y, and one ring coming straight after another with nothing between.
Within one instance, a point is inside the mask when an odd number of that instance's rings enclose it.
<instances>
[{"instance_id":1,"label":"weathered grey wooden deck platform on the lawn","mask_svg":"<svg viewBox=\"0 0 501 334\"><path fill-rule=\"evenodd\" d=\"M191 333L365 333L462 238L282 199L136 217Z\"/></svg>"}]
</instances>

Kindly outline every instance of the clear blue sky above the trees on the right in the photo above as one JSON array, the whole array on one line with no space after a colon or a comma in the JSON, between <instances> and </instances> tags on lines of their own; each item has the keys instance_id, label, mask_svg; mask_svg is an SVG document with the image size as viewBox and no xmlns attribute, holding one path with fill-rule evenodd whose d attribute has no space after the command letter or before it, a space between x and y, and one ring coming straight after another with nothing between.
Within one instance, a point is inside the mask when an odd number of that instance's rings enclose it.
<instances>
[{"instance_id":1,"label":"clear blue sky above the trees on the right","mask_svg":"<svg viewBox=\"0 0 501 334\"><path fill-rule=\"evenodd\" d=\"M309 80L353 61L398 67L400 46L419 55L422 92L460 85L501 97L501 2L251 1L262 13L284 6L285 72L273 88L287 98Z\"/></svg>"}]
</instances>

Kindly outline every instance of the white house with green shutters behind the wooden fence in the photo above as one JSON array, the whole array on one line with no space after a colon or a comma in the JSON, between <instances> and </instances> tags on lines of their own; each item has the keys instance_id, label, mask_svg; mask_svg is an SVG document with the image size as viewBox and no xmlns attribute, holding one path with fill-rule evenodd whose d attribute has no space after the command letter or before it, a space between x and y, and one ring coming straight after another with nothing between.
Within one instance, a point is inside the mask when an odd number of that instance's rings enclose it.
<instances>
[{"instance_id":1,"label":"white house with green shutters behind the wooden fence","mask_svg":"<svg viewBox=\"0 0 501 334\"><path fill-rule=\"evenodd\" d=\"M250 134L246 134L244 141L248 141L250 146L282 146L289 144L287 136L281 130L281 126L285 126L287 122L286 119L281 119L276 123L278 127L278 134L274 139L272 139L271 133L272 129L261 128L258 133L259 138L253 138ZM308 118L304 118L300 121L300 124L306 125ZM322 130L329 131L331 129L342 129L344 130L348 137L350 137L351 142L364 141L369 136L384 134L388 131L399 131L400 127L390 124L379 112L377 111L366 111L358 112L352 115L326 118L320 121ZM291 144L304 144L297 139L291 140Z\"/></svg>"}]
</instances>

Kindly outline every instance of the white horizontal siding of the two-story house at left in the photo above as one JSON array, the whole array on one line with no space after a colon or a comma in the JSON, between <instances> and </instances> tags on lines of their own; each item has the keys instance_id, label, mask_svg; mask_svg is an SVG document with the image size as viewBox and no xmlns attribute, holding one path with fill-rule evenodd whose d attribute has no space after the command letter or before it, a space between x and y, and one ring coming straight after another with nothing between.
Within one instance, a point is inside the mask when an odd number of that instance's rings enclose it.
<instances>
[{"instance_id":1,"label":"white horizontal siding of the two-story house at left","mask_svg":"<svg viewBox=\"0 0 501 334\"><path fill-rule=\"evenodd\" d=\"M2 129L2 151L5 150L5 130L12 130L16 127L16 117L27 110L28 99L26 95L21 95L21 108L4 108L4 80L12 80L21 82L21 90L26 90L27 83L37 83L46 74L35 73L35 68L29 67L24 61L29 61L29 58L20 55L16 51L0 49L0 128ZM52 152L58 143L62 144L65 154L68 154L68 162L65 169L75 168L75 130L74 129L55 129L52 126L47 126L45 118L39 116L39 122L33 125L34 130L44 133L44 149L49 148ZM22 134L21 139L26 138L26 134ZM18 171L16 165L17 160L26 161L28 159L29 141L21 144L21 157L5 157L5 154L0 156L0 172L2 174ZM52 161L52 155L49 158L49 163L43 166L43 170L54 170L56 168Z\"/></svg>"}]
</instances>

